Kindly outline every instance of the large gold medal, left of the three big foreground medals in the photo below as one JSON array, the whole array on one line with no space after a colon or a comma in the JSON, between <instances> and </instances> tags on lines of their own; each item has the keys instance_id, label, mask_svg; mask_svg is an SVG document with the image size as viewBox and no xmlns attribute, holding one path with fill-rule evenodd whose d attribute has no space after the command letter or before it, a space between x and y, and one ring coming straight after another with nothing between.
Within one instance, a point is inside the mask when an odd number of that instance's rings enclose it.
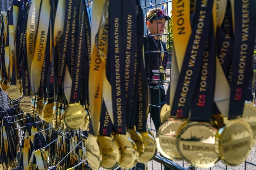
<instances>
[{"instance_id":1,"label":"large gold medal, left of the three big foreground medals","mask_svg":"<svg viewBox=\"0 0 256 170\"><path fill-rule=\"evenodd\" d=\"M159 127L156 142L162 156L170 160L182 160L177 149L176 137L180 128L186 124L185 119L170 118L169 121Z\"/></svg>"}]
</instances>

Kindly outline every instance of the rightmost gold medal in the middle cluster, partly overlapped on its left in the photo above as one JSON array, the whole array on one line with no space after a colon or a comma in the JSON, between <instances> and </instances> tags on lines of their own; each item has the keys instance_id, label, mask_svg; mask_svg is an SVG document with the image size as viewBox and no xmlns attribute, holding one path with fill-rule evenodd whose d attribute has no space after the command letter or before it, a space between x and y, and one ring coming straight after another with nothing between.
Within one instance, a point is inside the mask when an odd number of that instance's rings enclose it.
<instances>
[{"instance_id":1,"label":"rightmost gold medal in the middle cluster, partly overlapped on its left","mask_svg":"<svg viewBox=\"0 0 256 170\"><path fill-rule=\"evenodd\" d=\"M145 163L155 158L157 154L157 145L154 137L151 136L148 131L141 132L140 134L142 136L145 148L143 149L143 153L138 157L138 162Z\"/></svg>"}]
</instances>

